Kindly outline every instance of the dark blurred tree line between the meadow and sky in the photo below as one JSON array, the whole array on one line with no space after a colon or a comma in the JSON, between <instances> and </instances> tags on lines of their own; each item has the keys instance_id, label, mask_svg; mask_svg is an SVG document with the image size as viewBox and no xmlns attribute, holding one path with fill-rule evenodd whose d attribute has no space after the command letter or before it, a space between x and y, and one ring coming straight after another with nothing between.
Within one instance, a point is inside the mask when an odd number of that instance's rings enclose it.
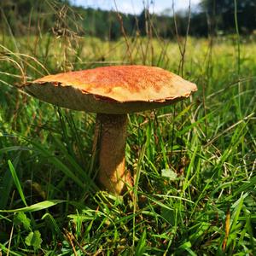
<instances>
[{"instance_id":1,"label":"dark blurred tree line between the meadow and sky","mask_svg":"<svg viewBox=\"0 0 256 256\"><path fill-rule=\"evenodd\" d=\"M236 6L235 6L236 3ZM67 0L5 0L0 3L0 33L11 30L15 36L34 32L54 32L70 35L116 40L134 35L174 38L176 32L207 37L209 33L234 33L235 10L238 28L249 34L256 30L255 0L201 0L199 8L191 12L172 11L162 15L144 9L140 15L125 15L116 11L84 9L71 6Z\"/></svg>"}]
</instances>

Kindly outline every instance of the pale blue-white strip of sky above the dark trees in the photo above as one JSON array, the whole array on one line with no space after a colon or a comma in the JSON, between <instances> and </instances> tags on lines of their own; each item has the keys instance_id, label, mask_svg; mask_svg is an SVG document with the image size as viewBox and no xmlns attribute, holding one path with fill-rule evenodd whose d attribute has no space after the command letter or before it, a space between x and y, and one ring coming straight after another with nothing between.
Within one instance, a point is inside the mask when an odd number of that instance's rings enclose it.
<instances>
[{"instance_id":1,"label":"pale blue-white strip of sky above the dark trees","mask_svg":"<svg viewBox=\"0 0 256 256\"><path fill-rule=\"evenodd\" d=\"M175 10L186 10L189 7L189 0L173 0ZM192 6L200 3L201 0L191 0ZM95 9L115 10L114 0L71 0L75 5L91 7ZM149 10L160 14L165 9L172 9L172 0L115 0L119 12L125 14L140 14L144 3L149 3Z\"/></svg>"}]
</instances>

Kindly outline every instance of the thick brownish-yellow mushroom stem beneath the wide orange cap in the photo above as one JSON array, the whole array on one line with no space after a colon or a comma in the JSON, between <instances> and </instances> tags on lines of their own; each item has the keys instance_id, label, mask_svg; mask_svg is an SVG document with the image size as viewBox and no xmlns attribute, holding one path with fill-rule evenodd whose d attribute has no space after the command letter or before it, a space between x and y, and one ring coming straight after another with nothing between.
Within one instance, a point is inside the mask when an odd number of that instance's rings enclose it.
<instances>
[{"instance_id":1,"label":"thick brownish-yellow mushroom stem beneath the wide orange cap","mask_svg":"<svg viewBox=\"0 0 256 256\"><path fill-rule=\"evenodd\" d=\"M125 171L126 114L97 113L98 181L109 192L120 195L131 174Z\"/></svg>"}]
</instances>

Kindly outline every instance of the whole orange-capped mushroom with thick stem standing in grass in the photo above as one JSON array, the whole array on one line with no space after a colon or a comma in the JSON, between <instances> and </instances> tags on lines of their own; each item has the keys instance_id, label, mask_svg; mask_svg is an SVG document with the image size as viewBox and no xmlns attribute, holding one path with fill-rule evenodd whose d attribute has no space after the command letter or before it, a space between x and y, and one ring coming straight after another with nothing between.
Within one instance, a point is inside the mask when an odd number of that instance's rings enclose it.
<instances>
[{"instance_id":1,"label":"whole orange-capped mushroom with thick stem standing in grass","mask_svg":"<svg viewBox=\"0 0 256 256\"><path fill-rule=\"evenodd\" d=\"M127 113L160 108L197 90L195 84L160 67L137 65L58 73L22 88L44 102L96 113L98 180L116 195L125 184L132 186L125 170Z\"/></svg>"}]
</instances>

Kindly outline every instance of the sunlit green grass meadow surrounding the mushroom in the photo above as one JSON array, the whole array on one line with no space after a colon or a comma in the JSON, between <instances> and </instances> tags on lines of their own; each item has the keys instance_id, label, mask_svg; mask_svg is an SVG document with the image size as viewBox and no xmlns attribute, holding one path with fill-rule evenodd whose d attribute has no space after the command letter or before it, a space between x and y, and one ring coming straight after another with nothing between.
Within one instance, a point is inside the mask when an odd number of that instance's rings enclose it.
<instances>
[{"instance_id":1,"label":"sunlit green grass meadow surrounding the mushroom","mask_svg":"<svg viewBox=\"0 0 256 256\"><path fill-rule=\"evenodd\" d=\"M236 37L214 38L212 55L207 39L189 38L183 76L198 92L183 106L129 116L126 166L136 174L136 201L97 187L95 114L56 108L9 86L131 62L178 72L175 42L127 40L2 37L0 252L255 254L255 38L241 38L239 72Z\"/></svg>"}]
</instances>

